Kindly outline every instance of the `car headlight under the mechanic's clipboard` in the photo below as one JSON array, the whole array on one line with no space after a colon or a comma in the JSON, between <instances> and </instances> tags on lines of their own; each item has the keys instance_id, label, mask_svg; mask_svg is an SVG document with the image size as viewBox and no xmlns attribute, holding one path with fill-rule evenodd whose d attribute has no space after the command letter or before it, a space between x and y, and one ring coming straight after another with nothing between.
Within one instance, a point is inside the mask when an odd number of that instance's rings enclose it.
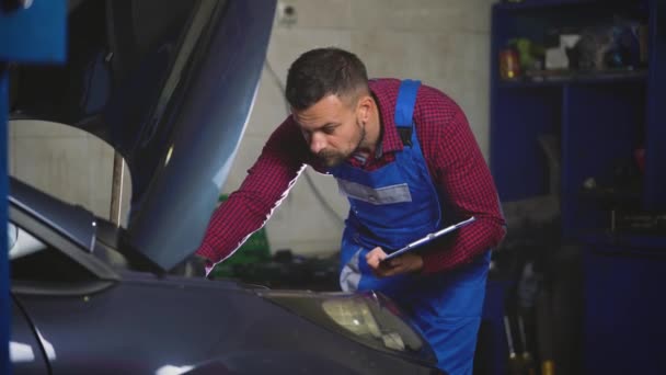
<instances>
[{"instance_id":1,"label":"car headlight under the mechanic's clipboard","mask_svg":"<svg viewBox=\"0 0 666 375\"><path fill-rule=\"evenodd\" d=\"M319 326L382 351L435 361L430 346L404 314L380 293L261 291L267 298Z\"/></svg>"}]
</instances>

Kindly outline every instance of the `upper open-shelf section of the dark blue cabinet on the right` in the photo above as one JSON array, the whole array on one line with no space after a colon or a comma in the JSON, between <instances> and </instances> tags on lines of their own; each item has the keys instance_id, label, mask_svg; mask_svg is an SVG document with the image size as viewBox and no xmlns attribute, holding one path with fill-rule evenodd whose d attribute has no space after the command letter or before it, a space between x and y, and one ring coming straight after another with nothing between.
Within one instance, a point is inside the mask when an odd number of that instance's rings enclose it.
<instances>
[{"instance_id":1,"label":"upper open-shelf section of the dark blue cabinet on the right","mask_svg":"<svg viewBox=\"0 0 666 375\"><path fill-rule=\"evenodd\" d=\"M666 18L665 9L666 3L658 0L495 4L491 169L503 201L549 193L548 163L538 137L550 134L559 137L561 146L565 235L576 235L577 228L604 227L578 192L585 179L608 180L613 161L632 160L639 148L645 149L645 170L638 198L645 209L666 211L666 27L659 23ZM624 14L648 25L646 66L601 73L501 78L500 55L512 38L543 42L549 30L612 23Z\"/></svg>"}]
</instances>

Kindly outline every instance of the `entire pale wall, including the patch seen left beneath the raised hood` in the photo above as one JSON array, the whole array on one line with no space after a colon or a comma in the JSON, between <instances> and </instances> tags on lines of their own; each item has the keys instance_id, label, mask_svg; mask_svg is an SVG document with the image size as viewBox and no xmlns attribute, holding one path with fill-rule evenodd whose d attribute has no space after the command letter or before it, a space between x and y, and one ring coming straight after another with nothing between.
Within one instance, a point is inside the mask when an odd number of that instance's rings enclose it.
<instances>
[{"instance_id":1,"label":"entire pale wall, including the patch seen left beneath the raised hood","mask_svg":"<svg viewBox=\"0 0 666 375\"><path fill-rule=\"evenodd\" d=\"M287 68L301 53L313 47L338 46L364 59L371 77L421 79L447 92L462 106L487 156L489 31L493 2L280 0L280 5L294 7L296 23L276 21L267 61L284 82ZM264 69L250 124L223 192L240 185L268 135L286 114L283 92ZM36 122L20 125L10 128L12 174L107 217L113 150L84 133L60 125ZM338 248L347 204L331 178L312 170L306 173L268 221L268 241L273 250L333 252ZM307 178L324 196L325 204L317 197Z\"/></svg>"}]
</instances>

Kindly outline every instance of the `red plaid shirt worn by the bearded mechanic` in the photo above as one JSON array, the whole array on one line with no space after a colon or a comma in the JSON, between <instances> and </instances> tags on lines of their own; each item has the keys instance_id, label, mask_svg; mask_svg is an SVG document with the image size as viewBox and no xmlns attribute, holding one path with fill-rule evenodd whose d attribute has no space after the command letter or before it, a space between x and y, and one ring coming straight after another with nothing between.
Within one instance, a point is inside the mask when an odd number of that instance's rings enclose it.
<instances>
[{"instance_id":1,"label":"red plaid shirt worn by the bearded mechanic","mask_svg":"<svg viewBox=\"0 0 666 375\"><path fill-rule=\"evenodd\" d=\"M375 170L393 161L395 152L402 150L393 122L399 86L397 79L370 81L383 127L380 152L365 163L349 158L352 166ZM446 94L422 84L414 122L430 177L443 195L445 220L476 217L476 221L422 251L424 273L451 270L497 246L505 234L505 221L493 178L460 107ZM213 262L232 254L266 223L306 164L325 171L289 116L273 133L241 188L213 214L197 254Z\"/></svg>"}]
</instances>

